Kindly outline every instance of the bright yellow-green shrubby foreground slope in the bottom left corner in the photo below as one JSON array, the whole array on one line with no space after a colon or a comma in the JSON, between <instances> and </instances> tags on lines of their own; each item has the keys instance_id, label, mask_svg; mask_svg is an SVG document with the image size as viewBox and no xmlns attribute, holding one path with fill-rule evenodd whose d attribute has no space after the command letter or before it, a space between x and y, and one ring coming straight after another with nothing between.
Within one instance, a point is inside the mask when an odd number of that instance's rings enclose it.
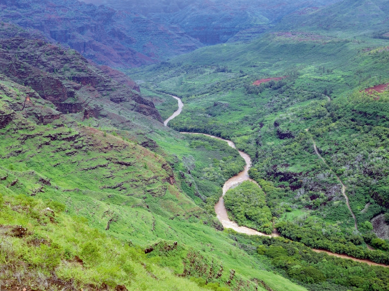
<instances>
[{"instance_id":1,"label":"bright yellow-green shrubby foreground slope in the bottom left corner","mask_svg":"<svg viewBox=\"0 0 389 291\"><path fill-rule=\"evenodd\" d=\"M2 177L16 178L0 171ZM3 183L0 189L2 289L204 290L157 266L139 246L64 213L64 204L16 194Z\"/></svg>"}]
</instances>

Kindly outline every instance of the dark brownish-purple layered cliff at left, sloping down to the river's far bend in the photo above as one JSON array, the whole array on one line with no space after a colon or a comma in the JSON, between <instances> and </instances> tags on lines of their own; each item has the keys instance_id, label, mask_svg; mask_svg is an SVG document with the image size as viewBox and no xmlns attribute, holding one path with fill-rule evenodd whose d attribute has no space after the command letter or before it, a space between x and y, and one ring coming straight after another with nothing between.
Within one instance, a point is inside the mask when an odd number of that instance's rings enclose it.
<instances>
[{"instance_id":1,"label":"dark brownish-purple layered cliff at left, sloping down to the river's far bend","mask_svg":"<svg viewBox=\"0 0 389 291\"><path fill-rule=\"evenodd\" d=\"M139 90L133 81L103 68L115 75L112 79L74 50L54 46L8 24L0 29L0 47L0 73L30 86L61 113L87 110L88 116L99 117L106 115L104 106L118 104L162 122L154 104L133 91Z\"/></svg>"}]
</instances>

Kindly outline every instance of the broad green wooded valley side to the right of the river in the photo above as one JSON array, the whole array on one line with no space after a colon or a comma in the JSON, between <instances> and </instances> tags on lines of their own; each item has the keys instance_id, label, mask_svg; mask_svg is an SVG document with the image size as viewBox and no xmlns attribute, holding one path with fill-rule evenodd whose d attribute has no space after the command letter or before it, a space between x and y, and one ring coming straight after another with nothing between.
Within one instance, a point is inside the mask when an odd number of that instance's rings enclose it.
<instances>
[{"instance_id":1,"label":"broad green wooded valley side to the right of the river","mask_svg":"<svg viewBox=\"0 0 389 291\"><path fill-rule=\"evenodd\" d=\"M182 97L173 128L231 139L251 156L250 176L283 236L388 263L389 237L372 220L388 212L388 93L364 92L388 82L388 51L367 38L318 36L273 33L199 49L148 68L152 76L132 72L149 76L142 86ZM283 78L253 85L267 77ZM240 208L245 199L234 190L231 218L258 229L250 214L261 198Z\"/></svg>"}]
</instances>

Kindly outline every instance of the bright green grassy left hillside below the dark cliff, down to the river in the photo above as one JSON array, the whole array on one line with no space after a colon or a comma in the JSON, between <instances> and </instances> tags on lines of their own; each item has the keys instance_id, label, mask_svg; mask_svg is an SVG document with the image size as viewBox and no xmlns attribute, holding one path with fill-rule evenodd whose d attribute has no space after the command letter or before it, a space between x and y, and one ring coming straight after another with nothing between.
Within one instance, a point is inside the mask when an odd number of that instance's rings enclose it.
<instances>
[{"instance_id":1,"label":"bright green grassy left hillside below the dark cliff, down to the river","mask_svg":"<svg viewBox=\"0 0 389 291\"><path fill-rule=\"evenodd\" d=\"M8 95L1 99L7 109L12 102ZM128 290L226 290L234 269L233 288L254 290L252 276L268 276L266 264L215 229L213 202L190 198L194 184L206 200L218 197L223 181L242 169L238 152L226 143L156 126L150 136L159 146L153 152L129 141L125 136L131 131L112 125L97 129L62 116L47 126L14 114L13 122L0 129L5 137L0 155L6 157L0 164L0 225L22 225L29 232L22 238L0 234L5 247L0 275L7 279L1 288L28 282L52 290L112 290L117 284ZM179 180L172 185L173 175ZM47 207L54 210L53 222L45 215ZM144 254L156 243L176 241L178 252ZM178 276L191 249L207 259L208 268L212 260L222 263L221 277L203 284L201 277ZM18 273L6 267L11 260ZM279 275L272 280L285 281ZM303 290L293 283L289 288Z\"/></svg>"}]
</instances>

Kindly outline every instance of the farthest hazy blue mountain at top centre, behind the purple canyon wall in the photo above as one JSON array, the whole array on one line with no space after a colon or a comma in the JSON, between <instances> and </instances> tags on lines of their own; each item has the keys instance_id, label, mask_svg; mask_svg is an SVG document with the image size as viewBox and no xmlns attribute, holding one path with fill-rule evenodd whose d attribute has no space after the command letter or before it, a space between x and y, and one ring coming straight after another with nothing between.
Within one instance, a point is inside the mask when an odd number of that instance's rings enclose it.
<instances>
[{"instance_id":1,"label":"farthest hazy blue mountain at top centre, behind the purple canyon wall","mask_svg":"<svg viewBox=\"0 0 389 291\"><path fill-rule=\"evenodd\" d=\"M146 16L147 21L176 28L202 44L248 41L267 32L284 16L337 0L85 0ZM146 21L143 17L142 21Z\"/></svg>"}]
</instances>

